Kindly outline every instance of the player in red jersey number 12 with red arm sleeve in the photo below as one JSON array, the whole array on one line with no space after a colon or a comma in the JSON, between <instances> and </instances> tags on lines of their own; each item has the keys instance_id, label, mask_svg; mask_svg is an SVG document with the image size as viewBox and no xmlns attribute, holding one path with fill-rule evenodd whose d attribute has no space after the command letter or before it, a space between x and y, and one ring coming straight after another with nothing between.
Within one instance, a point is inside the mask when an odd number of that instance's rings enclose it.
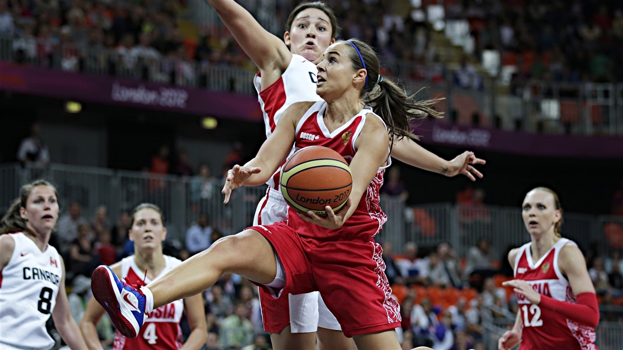
<instances>
[{"instance_id":1,"label":"player in red jersey number 12 with red arm sleeve","mask_svg":"<svg viewBox=\"0 0 623 350\"><path fill-rule=\"evenodd\" d=\"M517 293L515 326L498 341L498 349L597 349L599 307L584 255L560 235L563 210L546 187L526 194L521 210L530 242L508 253L515 280L503 284Z\"/></svg>"}]
</instances>

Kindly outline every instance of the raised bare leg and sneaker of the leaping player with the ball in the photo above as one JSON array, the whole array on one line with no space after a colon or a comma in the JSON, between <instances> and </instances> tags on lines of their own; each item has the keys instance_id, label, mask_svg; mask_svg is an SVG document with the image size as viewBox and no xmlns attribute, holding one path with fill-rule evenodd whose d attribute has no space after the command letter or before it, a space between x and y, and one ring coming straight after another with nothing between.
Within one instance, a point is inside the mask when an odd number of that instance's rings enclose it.
<instances>
[{"instance_id":1,"label":"raised bare leg and sneaker of the leaping player with the ball","mask_svg":"<svg viewBox=\"0 0 623 350\"><path fill-rule=\"evenodd\" d=\"M292 238L291 235L283 237ZM217 240L204 252L156 278L147 288L126 285L107 266L95 269L91 285L93 296L105 306L118 331L134 338L151 310L201 293L223 273L237 273L268 285L275 281L278 270L282 269L277 266L269 240L256 230L247 229ZM281 278L285 281L285 275ZM283 286L285 283L277 288Z\"/></svg>"}]
</instances>

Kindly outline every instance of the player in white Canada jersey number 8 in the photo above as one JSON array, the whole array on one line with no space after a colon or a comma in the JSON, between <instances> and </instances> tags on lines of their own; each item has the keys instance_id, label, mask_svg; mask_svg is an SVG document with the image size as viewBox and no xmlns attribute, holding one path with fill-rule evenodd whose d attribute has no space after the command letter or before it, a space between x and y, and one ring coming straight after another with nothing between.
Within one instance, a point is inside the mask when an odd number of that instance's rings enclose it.
<instances>
[{"instance_id":1,"label":"player in white Canada jersey number 8","mask_svg":"<svg viewBox=\"0 0 623 350\"><path fill-rule=\"evenodd\" d=\"M86 349L69 311L65 263L48 244L59 218L57 191L44 180L22 186L0 222L0 349L51 349L52 315L71 349Z\"/></svg>"}]
</instances>

